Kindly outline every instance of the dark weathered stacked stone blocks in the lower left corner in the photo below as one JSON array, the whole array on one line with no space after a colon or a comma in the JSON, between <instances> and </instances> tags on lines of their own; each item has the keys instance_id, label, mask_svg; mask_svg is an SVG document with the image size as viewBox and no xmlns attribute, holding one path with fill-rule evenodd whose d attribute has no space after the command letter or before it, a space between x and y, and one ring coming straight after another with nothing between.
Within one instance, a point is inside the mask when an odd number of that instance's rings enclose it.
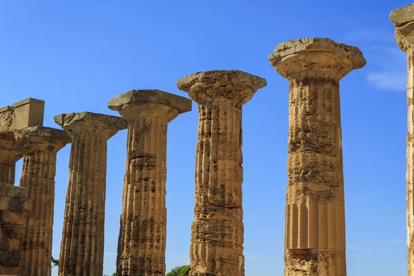
<instances>
[{"instance_id":1,"label":"dark weathered stacked stone blocks in the lower left corner","mask_svg":"<svg viewBox=\"0 0 414 276\"><path fill-rule=\"evenodd\" d=\"M21 275L24 251L21 240L26 236L26 217L32 201L25 189L0 181L0 275Z\"/></svg>"}]
</instances>

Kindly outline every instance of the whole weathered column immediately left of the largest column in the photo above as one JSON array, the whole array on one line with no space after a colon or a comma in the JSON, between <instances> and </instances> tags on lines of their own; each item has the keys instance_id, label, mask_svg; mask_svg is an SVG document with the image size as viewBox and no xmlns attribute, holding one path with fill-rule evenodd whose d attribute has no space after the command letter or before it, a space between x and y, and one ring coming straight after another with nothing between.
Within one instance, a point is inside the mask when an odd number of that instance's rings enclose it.
<instances>
[{"instance_id":1,"label":"whole weathered column immediately left of the largest column","mask_svg":"<svg viewBox=\"0 0 414 276\"><path fill-rule=\"evenodd\" d=\"M242 106L266 80L217 70L183 77L177 86L199 110L190 275L242 276Z\"/></svg>"}]
</instances>

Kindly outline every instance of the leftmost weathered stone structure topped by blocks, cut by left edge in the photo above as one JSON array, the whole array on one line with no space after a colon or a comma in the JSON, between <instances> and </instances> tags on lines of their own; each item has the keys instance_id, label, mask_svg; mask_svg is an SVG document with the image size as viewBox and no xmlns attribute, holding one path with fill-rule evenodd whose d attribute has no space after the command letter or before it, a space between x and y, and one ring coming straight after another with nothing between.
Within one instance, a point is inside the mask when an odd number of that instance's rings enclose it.
<instances>
[{"instance_id":1,"label":"leftmost weathered stone structure topped by blocks, cut by left edge","mask_svg":"<svg viewBox=\"0 0 414 276\"><path fill-rule=\"evenodd\" d=\"M21 240L32 201L13 185L16 161L23 157L15 136L21 128L43 125L43 108L44 101L30 98L0 108L0 275L20 275L24 265Z\"/></svg>"}]
</instances>

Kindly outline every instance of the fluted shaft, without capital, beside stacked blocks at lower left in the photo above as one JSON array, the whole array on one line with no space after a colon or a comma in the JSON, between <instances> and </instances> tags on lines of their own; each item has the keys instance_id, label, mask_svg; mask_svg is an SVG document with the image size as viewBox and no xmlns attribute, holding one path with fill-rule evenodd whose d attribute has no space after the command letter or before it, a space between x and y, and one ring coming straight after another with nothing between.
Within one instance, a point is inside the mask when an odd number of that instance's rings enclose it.
<instances>
[{"instance_id":1,"label":"fluted shaft, without capital, beside stacked blocks at lower left","mask_svg":"<svg viewBox=\"0 0 414 276\"><path fill-rule=\"evenodd\" d=\"M26 188L26 197L32 199L33 209L23 242L26 250L23 275L51 273L56 153L48 145L24 149L20 186Z\"/></svg>"}]
</instances>

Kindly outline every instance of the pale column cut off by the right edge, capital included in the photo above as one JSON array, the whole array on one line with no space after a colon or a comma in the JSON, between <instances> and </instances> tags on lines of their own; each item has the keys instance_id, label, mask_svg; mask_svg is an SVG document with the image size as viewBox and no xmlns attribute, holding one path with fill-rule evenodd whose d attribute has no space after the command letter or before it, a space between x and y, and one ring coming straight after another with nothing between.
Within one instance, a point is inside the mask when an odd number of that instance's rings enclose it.
<instances>
[{"instance_id":1,"label":"pale column cut off by the right edge, capital included","mask_svg":"<svg viewBox=\"0 0 414 276\"><path fill-rule=\"evenodd\" d=\"M406 169L406 228L408 248L408 276L414 276L414 4L393 10L390 19L395 25L395 39L398 46L406 52L408 58L407 76L407 105L408 105L408 134L407 134L407 169Z\"/></svg>"}]
</instances>

